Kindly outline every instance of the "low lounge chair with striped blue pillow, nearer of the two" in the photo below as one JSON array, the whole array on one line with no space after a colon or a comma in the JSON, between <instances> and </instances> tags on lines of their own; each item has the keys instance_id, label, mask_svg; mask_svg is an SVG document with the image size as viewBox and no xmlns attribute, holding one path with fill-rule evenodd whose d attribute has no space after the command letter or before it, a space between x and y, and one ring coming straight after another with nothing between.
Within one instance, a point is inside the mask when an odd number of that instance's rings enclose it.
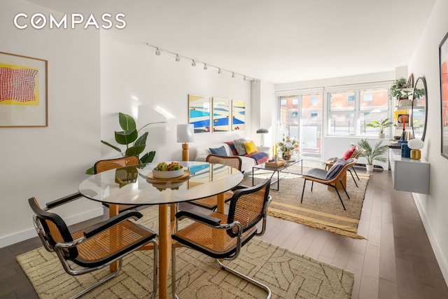
<instances>
[{"instance_id":1,"label":"low lounge chair with striped blue pillow, nearer of the two","mask_svg":"<svg viewBox=\"0 0 448 299\"><path fill-rule=\"evenodd\" d=\"M339 197L339 201L341 202L342 207L345 210L344 202L342 202L342 197L341 197L341 195L339 195L339 191L337 190L336 185L337 185L337 183L339 183L342 186L342 189L344 189L344 192L347 195L347 198L350 199L349 193L347 193L346 188L345 188L344 184L342 183L341 179L342 179L342 176L344 176L346 174L347 169L349 169L349 167L352 167L353 165L355 165L357 161L358 161L358 159L353 159L353 158L346 160L344 166L341 169L339 169L339 172L337 172L337 174L335 174L335 176L332 179L325 179L325 176L328 173L328 170L321 169L321 168L309 169L307 172L305 172L302 175L302 179L304 179L305 181L303 183L302 198L300 200L300 203L303 202L303 194L305 192L305 185L306 185L307 181L311 181L311 192L313 192L314 182L323 183L324 185L331 186L332 188L335 188L337 196Z\"/></svg>"}]
</instances>

